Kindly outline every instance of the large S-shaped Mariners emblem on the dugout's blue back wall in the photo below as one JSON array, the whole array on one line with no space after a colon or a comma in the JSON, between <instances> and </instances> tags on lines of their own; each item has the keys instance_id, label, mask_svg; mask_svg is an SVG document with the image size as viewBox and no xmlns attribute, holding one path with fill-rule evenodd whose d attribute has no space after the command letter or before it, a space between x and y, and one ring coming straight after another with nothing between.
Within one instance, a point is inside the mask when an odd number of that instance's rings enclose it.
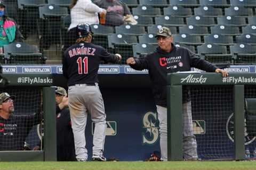
<instances>
[{"instance_id":1,"label":"large S-shaped Mariners emblem on the dugout's blue back wall","mask_svg":"<svg viewBox=\"0 0 256 170\"><path fill-rule=\"evenodd\" d=\"M143 116L143 128L146 129L146 132L142 133L143 145L153 145L158 140L159 131L157 123L156 113L147 112Z\"/></svg>"}]
</instances>

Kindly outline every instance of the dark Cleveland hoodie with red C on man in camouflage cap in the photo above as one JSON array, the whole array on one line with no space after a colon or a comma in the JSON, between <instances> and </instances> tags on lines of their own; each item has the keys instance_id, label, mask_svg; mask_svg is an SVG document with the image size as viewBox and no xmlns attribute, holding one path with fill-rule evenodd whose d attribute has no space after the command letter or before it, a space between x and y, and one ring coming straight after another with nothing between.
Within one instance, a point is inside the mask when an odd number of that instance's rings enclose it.
<instances>
[{"instance_id":1,"label":"dark Cleveland hoodie with red C on man in camouflage cap","mask_svg":"<svg viewBox=\"0 0 256 170\"><path fill-rule=\"evenodd\" d=\"M136 64L130 65L135 70L148 69L153 85L153 95L156 105L166 107L167 73L190 71L191 67L207 72L214 72L218 67L202 60L185 47L175 47L172 44L170 53L157 47L154 53L145 57L135 58ZM189 90L183 90L183 102L190 100Z\"/></svg>"}]
</instances>

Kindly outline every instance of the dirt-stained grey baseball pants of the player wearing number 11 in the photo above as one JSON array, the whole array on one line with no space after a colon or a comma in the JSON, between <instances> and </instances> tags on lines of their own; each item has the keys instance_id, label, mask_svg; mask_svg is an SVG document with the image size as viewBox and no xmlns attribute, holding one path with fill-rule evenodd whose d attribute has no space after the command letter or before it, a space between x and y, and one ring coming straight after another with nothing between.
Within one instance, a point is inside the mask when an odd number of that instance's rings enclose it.
<instances>
[{"instance_id":1,"label":"dirt-stained grey baseball pants of the player wearing number 11","mask_svg":"<svg viewBox=\"0 0 256 170\"><path fill-rule=\"evenodd\" d=\"M68 106L74 133L76 158L87 160L85 148L85 126L88 113L95 123L92 152L95 156L102 156L106 136L106 114L103 99L98 84L86 86L76 84L68 88Z\"/></svg>"}]
</instances>

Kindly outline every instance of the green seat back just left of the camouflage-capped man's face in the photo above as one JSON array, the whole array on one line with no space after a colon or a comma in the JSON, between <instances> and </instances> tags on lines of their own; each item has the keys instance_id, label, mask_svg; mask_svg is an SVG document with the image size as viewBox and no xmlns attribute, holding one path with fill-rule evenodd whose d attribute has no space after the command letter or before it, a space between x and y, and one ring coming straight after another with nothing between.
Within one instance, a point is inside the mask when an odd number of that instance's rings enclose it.
<instances>
[{"instance_id":1,"label":"green seat back just left of the camouflage-capped man's face","mask_svg":"<svg viewBox=\"0 0 256 170\"><path fill-rule=\"evenodd\" d=\"M149 53L153 53L156 49L156 46L151 44L146 44L146 43L142 43L142 44L139 43L137 45L133 45L132 49L133 49L133 56L139 57Z\"/></svg>"}]
</instances>

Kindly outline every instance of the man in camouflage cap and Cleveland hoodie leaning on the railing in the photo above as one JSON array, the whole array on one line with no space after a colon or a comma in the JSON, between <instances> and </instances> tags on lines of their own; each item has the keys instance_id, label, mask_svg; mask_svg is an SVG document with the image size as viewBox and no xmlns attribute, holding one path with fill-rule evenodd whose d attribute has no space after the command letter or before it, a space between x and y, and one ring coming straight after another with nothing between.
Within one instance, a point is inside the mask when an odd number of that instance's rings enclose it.
<instances>
[{"instance_id":1,"label":"man in camouflage cap and Cleveland hoodie leaning on the railing","mask_svg":"<svg viewBox=\"0 0 256 170\"><path fill-rule=\"evenodd\" d=\"M167 73L190 71L191 67L207 72L222 73L223 77L226 77L228 73L202 60L187 48L175 47L172 33L167 27L160 28L155 37L158 47L154 53L140 58L130 57L126 63L135 70L148 69L149 71L159 120L161 159L167 160ZM185 160L197 160L198 158L188 88L183 88L183 158Z\"/></svg>"}]
</instances>

